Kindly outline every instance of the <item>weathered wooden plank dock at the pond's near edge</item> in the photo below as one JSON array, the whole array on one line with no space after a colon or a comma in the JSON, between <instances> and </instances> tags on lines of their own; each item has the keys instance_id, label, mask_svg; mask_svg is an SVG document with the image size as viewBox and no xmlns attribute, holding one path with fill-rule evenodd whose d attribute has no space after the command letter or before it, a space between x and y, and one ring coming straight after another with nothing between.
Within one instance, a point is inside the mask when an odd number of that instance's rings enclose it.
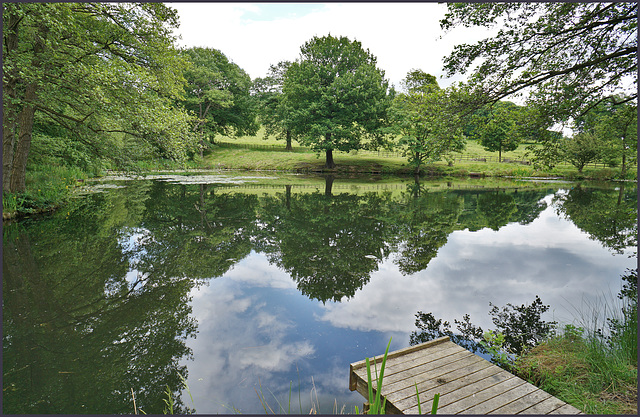
<instances>
[{"instance_id":1,"label":"weathered wooden plank dock at the pond's near edge","mask_svg":"<svg viewBox=\"0 0 640 417\"><path fill-rule=\"evenodd\" d=\"M378 373L382 356L376 357ZM374 361L373 389L377 387ZM438 414L583 414L536 386L518 378L442 337L389 352L381 395L387 413L417 414L416 385L422 413L431 412L440 394ZM369 397L365 361L351 364L349 389Z\"/></svg>"}]
</instances>

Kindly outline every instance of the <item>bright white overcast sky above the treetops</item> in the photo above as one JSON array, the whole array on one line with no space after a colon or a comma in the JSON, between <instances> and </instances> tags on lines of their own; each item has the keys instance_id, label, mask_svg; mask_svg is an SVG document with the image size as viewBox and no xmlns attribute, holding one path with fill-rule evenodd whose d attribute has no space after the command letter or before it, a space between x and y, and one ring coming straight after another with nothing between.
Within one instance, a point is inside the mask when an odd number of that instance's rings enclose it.
<instances>
[{"instance_id":1,"label":"bright white overcast sky above the treetops","mask_svg":"<svg viewBox=\"0 0 640 417\"><path fill-rule=\"evenodd\" d=\"M458 43L486 37L485 29L443 33L439 3L168 3L177 9L178 45L210 47L244 69L252 79L269 65L293 61L313 36L346 36L377 57L378 67L396 87L407 72L421 69L441 87L462 81L442 79L442 59Z\"/></svg>"}]
</instances>

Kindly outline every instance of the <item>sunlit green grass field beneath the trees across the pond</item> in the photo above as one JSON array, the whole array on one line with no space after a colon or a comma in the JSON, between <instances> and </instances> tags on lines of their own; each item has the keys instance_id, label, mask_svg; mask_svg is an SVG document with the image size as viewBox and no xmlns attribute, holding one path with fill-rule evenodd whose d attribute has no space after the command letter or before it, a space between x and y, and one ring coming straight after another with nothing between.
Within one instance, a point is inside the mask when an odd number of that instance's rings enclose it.
<instances>
[{"instance_id":1,"label":"sunlit green grass field beneath the trees across the pond","mask_svg":"<svg viewBox=\"0 0 640 417\"><path fill-rule=\"evenodd\" d=\"M352 151L334 152L335 169L324 168L325 155L318 154L292 142L293 151L285 150L285 142L274 137L264 139L261 129L255 136L229 138L219 136L216 144L202 161L204 168L239 169L239 170L277 170L301 173L336 173L336 174L391 174L413 175L413 168L399 151L371 152ZM518 161L528 160L527 145L521 144L513 152L503 152L503 159ZM582 173L571 165L561 164L550 170L535 169L531 165L517 162L498 162L498 153L486 151L476 141L467 142L466 149L454 154L462 160L456 160L453 166L440 161L423 166L423 174L434 176L513 176L513 177L564 177L568 179L606 180L616 177L619 169L588 166ZM472 159L486 159L478 161ZM636 178L635 170L631 175Z\"/></svg>"}]
</instances>

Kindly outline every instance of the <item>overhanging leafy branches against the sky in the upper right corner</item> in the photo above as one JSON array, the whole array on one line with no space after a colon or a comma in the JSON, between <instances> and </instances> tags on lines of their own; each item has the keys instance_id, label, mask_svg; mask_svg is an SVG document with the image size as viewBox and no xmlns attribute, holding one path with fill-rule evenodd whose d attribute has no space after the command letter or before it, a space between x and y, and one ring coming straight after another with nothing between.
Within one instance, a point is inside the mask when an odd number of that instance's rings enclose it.
<instances>
[{"instance_id":1,"label":"overhanging leafy branches against the sky in the upper right corner","mask_svg":"<svg viewBox=\"0 0 640 417\"><path fill-rule=\"evenodd\" d=\"M442 29L502 28L456 46L445 70L465 73L477 63L469 79L478 93L472 104L531 90L531 100L553 122L583 114L620 90L635 101L637 12L635 2L449 3Z\"/></svg>"}]
</instances>

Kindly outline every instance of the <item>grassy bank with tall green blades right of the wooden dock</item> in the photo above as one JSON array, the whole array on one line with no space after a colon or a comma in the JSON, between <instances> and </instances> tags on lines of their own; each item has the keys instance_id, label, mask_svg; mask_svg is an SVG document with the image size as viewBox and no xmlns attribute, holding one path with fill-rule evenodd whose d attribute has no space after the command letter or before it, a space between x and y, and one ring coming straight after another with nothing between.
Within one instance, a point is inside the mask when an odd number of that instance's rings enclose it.
<instances>
[{"instance_id":1,"label":"grassy bank with tall green blades right of the wooden dock","mask_svg":"<svg viewBox=\"0 0 640 417\"><path fill-rule=\"evenodd\" d=\"M579 327L520 357L516 373L586 414L637 414L637 270L623 280L617 299L579 312Z\"/></svg>"}]
</instances>

